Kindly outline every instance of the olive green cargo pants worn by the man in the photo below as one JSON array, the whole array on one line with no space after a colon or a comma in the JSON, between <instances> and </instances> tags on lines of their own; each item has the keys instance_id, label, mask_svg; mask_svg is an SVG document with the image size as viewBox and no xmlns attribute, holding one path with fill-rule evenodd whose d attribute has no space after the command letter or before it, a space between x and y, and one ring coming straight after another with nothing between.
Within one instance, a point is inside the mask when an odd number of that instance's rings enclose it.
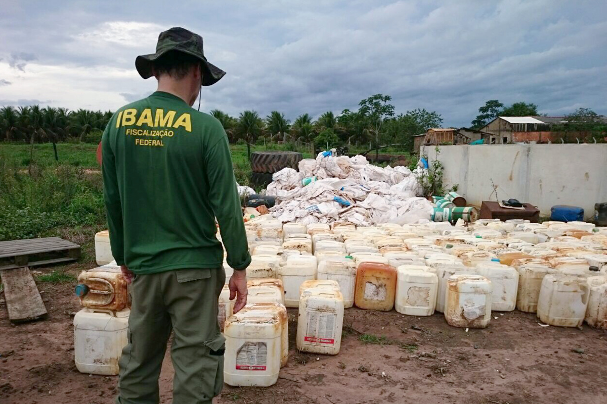
<instances>
[{"instance_id":1,"label":"olive green cargo pants worn by the man","mask_svg":"<svg viewBox=\"0 0 607 404\"><path fill-rule=\"evenodd\" d=\"M158 377L171 329L173 402L211 404L223 387L225 339L217 323L217 300L224 282L223 268L135 277L117 404L158 404Z\"/></svg>"}]
</instances>

